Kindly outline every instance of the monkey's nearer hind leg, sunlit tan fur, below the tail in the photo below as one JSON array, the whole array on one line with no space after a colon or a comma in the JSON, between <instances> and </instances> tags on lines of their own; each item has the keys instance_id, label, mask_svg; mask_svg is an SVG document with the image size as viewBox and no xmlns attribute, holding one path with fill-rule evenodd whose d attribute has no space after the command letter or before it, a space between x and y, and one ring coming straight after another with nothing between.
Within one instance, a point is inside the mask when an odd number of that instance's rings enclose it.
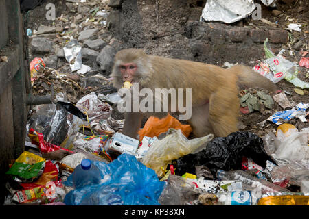
<instances>
[{"instance_id":1,"label":"monkey's nearer hind leg, sunlit tan fur, below the tail","mask_svg":"<svg viewBox=\"0 0 309 219\"><path fill-rule=\"evenodd\" d=\"M217 137L225 137L238 131L240 107L237 90L220 90L209 99L209 122Z\"/></svg>"}]
</instances>

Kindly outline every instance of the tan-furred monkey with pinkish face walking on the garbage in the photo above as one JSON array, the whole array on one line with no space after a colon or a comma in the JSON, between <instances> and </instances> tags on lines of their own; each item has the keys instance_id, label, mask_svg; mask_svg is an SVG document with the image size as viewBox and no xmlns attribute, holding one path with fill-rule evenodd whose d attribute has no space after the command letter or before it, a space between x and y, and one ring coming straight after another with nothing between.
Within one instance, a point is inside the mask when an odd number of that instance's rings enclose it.
<instances>
[{"instance_id":1,"label":"tan-furred monkey with pinkish face walking on the garbage","mask_svg":"<svg viewBox=\"0 0 309 219\"><path fill-rule=\"evenodd\" d=\"M125 81L139 83L139 88L192 88L194 136L223 137L238 131L239 86L260 87L279 92L275 83L243 65L229 69L212 64L147 55L141 49L124 49L115 55L113 86L119 89ZM185 97L184 97L185 98ZM164 118L167 112L144 113ZM122 133L137 137L143 113L127 112Z\"/></svg>"}]
</instances>

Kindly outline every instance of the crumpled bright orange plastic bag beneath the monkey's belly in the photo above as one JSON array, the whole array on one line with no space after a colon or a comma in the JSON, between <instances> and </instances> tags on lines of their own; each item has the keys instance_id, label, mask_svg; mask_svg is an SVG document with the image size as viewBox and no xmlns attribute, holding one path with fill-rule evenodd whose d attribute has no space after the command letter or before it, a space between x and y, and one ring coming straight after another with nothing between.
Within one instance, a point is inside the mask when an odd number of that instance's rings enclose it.
<instances>
[{"instance_id":1,"label":"crumpled bright orange plastic bag beneath the monkey's belly","mask_svg":"<svg viewBox=\"0 0 309 219\"><path fill-rule=\"evenodd\" d=\"M192 128L190 125L183 125L168 114L165 118L159 119L155 116L150 116L148 118L147 122L145 123L145 126L143 129L139 130L139 140L142 141L144 136L148 137L155 137L159 136L159 134L164 133L168 131L168 129L181 129L181 132L185 137L188 137L190 133L192 132Z\"/></svg>"}]
</instances>

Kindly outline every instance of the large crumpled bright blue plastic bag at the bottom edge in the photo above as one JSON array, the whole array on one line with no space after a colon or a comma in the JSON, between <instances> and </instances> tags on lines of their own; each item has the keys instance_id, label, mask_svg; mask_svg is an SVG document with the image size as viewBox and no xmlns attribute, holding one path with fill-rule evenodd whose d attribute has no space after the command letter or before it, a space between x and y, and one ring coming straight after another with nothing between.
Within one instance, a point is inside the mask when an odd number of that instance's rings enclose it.
<instances>
[{"instance_id":1,"label":"large crumpled bright blue plastic bag at the bottom edge","mask_svg":"<svg viewBox=\"0 0 309 219\"><path fill-rule=\"evenodd\" d=\"M102 183L71 190L66 205L160 205L165 182L159 181L155 170L123 153L109 164L93 161L102 172ZM73 185L68 177L65 185Z\"/></svg>"}]
</instances>

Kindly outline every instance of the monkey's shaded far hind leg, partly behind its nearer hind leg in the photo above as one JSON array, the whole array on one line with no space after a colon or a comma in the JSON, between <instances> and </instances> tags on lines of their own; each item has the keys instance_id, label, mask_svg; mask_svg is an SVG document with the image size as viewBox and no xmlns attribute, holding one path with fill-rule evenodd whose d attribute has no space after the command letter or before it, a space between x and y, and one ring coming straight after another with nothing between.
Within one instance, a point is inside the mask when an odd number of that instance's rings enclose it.
<instances>
[{"instance_id":1,"label":"monkey's shaded far hind leg, partly behind its nearer hind leg","mask_svg":"<svg viewBox=\"0 0 309 219\"><path fill-rule=\"evenodd\" d=\"M209 103L192 107L192 116L189 123L193 129L193 134L198 137L207 136L209 133L214 133L209 123Z\"/></svg>"}]
</instances>

